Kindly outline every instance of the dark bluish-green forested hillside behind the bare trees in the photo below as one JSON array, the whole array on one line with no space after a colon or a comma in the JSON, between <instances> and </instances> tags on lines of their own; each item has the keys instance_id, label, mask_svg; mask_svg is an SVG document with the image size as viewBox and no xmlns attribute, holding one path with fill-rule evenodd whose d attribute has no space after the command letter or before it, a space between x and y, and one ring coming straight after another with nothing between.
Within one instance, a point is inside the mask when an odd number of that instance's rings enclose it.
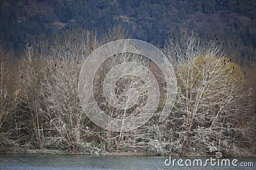
<instances>
[{"instance_id":1,"label":"dark bluish-green forested hillside behind the bare trees","mask_svg":"<svg viewBox=\"0 0 256 170\"><path fill-rule=\"evenodd\" d=\"M232 36L256 48L255 1L0 1L0 36L19 53L33 37L83 27L104 34L122 24L133 38L163 45L184 28ZM212 35L213 36L213 35Z\"/></svg>"}]
</instances>

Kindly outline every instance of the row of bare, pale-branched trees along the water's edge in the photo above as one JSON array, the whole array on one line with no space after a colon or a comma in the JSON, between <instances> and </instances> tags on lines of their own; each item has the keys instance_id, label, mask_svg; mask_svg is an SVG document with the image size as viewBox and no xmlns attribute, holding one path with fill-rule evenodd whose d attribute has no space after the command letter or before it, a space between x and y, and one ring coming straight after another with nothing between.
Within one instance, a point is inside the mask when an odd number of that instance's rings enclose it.
<instances>
[{"instance_id":1,"label":"row of bare, pale-branched trees along the water's edge","mask_svg":"<svg viewBox=\"0 0 256 170\"><path fill-rule=\"evenodd\" d=\"M195 32L169 35L166 45L160 46L173 64L178 83L177 100L164 122L159 123L159 116L166 87L163 75L154 74L161 80L161 103L146 124L129 132L111 132L93 124L79 101L81 67L100 45L127 37L121 27L109 29L102 36L81 28L64 31L61 36L43 36L27 43L15 61L10 60L13 53L1 47L0 151L23 148L88 154L255 154L255 63L246 57L246 67L239 66L238 48L232 44L224 48L216 40L218 37L201 39ZM245 55L255 53L248 50ZM134 88L138 103L118 110L106 102L102 78L115 64L131 60L158 73L157 66L150 65L147 57L127 54L104 62L93 82L99 107L114 118L139 113L149 100L143 81L124 77L116 83L116 97L125 101L127 92Z\"/></svg>"}]
</instances>

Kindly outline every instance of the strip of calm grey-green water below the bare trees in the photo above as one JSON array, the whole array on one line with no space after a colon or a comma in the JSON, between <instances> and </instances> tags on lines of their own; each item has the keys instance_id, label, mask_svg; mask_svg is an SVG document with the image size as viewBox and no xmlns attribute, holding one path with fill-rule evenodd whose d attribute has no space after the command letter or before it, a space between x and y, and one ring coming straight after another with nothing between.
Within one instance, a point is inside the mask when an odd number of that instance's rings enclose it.
<instances>
[{"instance_id":1,"label":"strip of calm grey-green water below the bare trees","mask_svg":"<svg viewBox=\"0 0 256 170\"><path fill-rule=\"evenodd\" d=\"M0 169L230 169L230 167L180 167L165 166L168 157L149 156L92 156L92 155L0 155ZM172 157L173 159L191 159ZM200 159L200 158L196 158ZM205 160L206 158L201 158ZM237 159L253 162L254 167L231 169L256 169L256 159ZM230 162L232 159L230 159ZM239 162L237 164L239 164ZM184 164L184 162L183 162Z\"/></svg>"}]
</instances>

